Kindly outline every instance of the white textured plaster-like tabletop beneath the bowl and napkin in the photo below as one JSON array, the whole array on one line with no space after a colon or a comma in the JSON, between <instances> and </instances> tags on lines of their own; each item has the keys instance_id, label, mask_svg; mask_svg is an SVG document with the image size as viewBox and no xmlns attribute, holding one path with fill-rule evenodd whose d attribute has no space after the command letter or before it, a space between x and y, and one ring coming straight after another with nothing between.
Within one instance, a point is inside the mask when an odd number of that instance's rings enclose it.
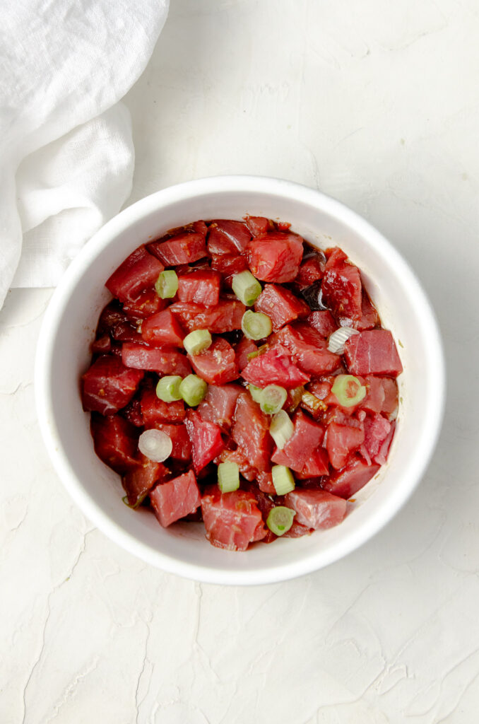
<instances>
[{"instance_id":1,"label":"white textured plaster-like tabletop beneath the bowl and napkin","mask_svg":"<svg viewBox=\"0 0 479 724\"><path fill-rule=\"evenodd\" d=\"M287 584L148 568L46 458L33 349L50 292L0 315L2 724L472 723L479 705L479 15L475 0L177 0L127 96L132 201L225 172L317 186L397 245L436 306L449 400L394 521Z\"/></svg>"}]
</instances>

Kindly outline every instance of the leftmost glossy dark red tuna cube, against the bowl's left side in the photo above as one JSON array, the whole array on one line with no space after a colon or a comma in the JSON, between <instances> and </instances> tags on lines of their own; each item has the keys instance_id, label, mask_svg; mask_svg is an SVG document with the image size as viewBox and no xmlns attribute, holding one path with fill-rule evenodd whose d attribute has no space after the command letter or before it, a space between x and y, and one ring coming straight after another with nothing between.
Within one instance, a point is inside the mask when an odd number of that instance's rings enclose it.
<instances>
[{"instance_id":1,"label":"leftmost glossy dark red tuna cube, against the bowl's left side","mask_svg":"<svg viewBox=\"0 0 479 724\"><path fill-rule=\"evenodd\" d=\"M118 357L103 355L82 376L83 409L112 415L127 405L137 390L143 370L127 369Z\"/></svg>"}]
</instances>

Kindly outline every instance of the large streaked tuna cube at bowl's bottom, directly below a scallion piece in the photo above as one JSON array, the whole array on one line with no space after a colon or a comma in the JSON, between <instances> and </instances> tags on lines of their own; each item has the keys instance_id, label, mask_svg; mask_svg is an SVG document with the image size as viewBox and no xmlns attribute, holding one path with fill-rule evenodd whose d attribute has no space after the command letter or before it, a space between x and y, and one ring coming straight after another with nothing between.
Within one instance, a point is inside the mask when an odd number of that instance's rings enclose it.
<instances>
[{"instance_id":1,"label":"large streaked tuna cube at bowl's bottom, directly below a scallion piece","mask_svg":"<svg viewBox=\"0 0 479 724\"><path fill-rule=\"evenodd\" d=\"M266 536L263 518L253 493L234 490L221 493L211 486L201 498L201 510L209 542L226 550L246 550Z\"/></svg>"}]
</instances>

